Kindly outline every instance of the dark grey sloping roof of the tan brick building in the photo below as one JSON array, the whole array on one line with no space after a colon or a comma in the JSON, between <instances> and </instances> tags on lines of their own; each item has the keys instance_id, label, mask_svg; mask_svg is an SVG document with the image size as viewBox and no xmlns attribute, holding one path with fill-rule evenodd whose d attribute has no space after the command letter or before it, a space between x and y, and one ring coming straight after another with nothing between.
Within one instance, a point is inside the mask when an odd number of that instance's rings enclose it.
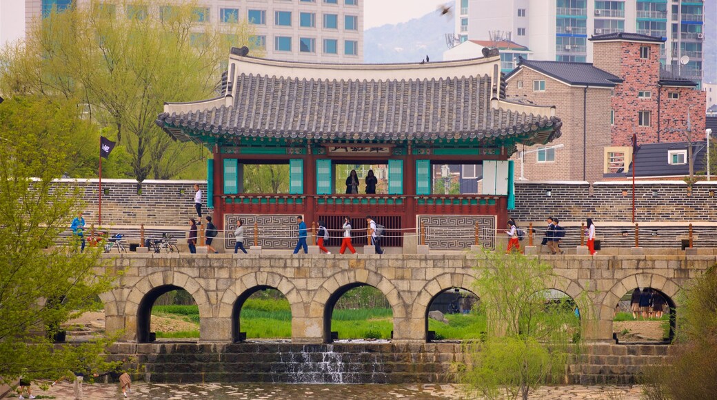
<instances>
[{"instance_id":1,"label":"dark grey sloping roof of the tan brick building","mask_svg":"<svg viewBox=\"0 0 717 400\"><path fill-rule=\"evenodd\" d=\"M616 83L622 82L619 77L587 62L535 61L532 59L521 59L518 62L518 68L513 70L509 76L516 73L521 65L566 82L569 85L614 87Z\"/></svg>"}]
</instances>

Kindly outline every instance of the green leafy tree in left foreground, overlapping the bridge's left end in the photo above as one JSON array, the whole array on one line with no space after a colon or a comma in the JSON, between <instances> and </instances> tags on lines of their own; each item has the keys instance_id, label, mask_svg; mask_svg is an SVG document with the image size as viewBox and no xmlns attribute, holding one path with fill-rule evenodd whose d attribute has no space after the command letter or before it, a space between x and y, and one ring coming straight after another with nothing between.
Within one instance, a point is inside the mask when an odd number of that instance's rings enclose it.
<instances>
[{"instance_id":1,"label":"green leafy tree in left foreground, overlapping the bridge's left end","mask_svg":"<svg viewBox=\"0 0 717 400\"><path fill-rule=\"evenodd\" d=\"M77 193L53 182L72 168L87 125L75 113L74 105L18 97L0 105L0 381L108 368L102 353L111 338L59 348L49 339L92 308L114 277L100 249L57 245L81 206Z\"/></svg>"}]
</instances>

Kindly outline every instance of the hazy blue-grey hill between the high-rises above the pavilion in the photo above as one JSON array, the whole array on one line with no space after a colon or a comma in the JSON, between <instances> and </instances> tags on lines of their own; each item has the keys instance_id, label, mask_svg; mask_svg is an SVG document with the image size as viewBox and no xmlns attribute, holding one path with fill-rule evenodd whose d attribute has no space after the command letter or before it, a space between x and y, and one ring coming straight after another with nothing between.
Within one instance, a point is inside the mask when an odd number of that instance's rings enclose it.
<instances>
[{"instance_id":1,"label":"hazy blue-grey hill between the high-rises above the pavilion","mask_svg":"<svg viewBox=\"0 0 717 400\"><path fill-rule=\"evenodd\" d=\"M420 62L429 56L441 61L447 50L445 34L455 29L452 16L434 11L401 24L386 24L364 31L364 62Z\"/></svg>"}]
</instances>

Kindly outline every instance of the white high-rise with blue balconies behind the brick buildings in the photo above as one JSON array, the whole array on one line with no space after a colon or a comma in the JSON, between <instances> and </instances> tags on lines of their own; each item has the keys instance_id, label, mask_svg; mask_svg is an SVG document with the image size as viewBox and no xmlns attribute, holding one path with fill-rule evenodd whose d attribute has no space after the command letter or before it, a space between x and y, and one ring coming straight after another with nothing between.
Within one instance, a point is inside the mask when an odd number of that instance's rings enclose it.
<instances>
[{"instance_id":1,"label":"white high-rise with blue balconies behind the brick buildings","mask_svg":"<svg viewBox=\"0 0 717 400\"><path fill-rule=\"evenodd\" d=\"M665 37L663 64L702 79L703 0L457 0L457 6L460 42L507 32L531 49L532 59L592 62L589 37L635 32Z\"/></svg>"}]
</instances>

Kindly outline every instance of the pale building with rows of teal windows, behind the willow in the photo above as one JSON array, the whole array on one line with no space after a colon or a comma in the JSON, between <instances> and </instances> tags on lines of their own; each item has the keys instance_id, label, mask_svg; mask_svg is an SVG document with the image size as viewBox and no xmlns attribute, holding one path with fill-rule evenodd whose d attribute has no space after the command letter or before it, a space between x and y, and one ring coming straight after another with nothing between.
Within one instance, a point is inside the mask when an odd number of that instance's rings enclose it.
<instances>
[{"instance_id":1,"label":"pale building with rows of teal windows, behind the willow","mask_svg":"<svg viewBox=\"0 0 717 400\"><path fill-rule=\"evenodd\" d=\"M15 0L13 0L15 1ZM22 0L21 0L22 1ZM148 1L157 12L182 0ZM0 1L5 3L6 0ZM91 0L24 0L26 24L47 16L52 9ZM121 1L100 1L111 6ZM196 15L208 24L247 21L255 29L255 44L265 57L285 61L361 63L364 61L363 0L199 0ZM118 10L127 14L127 10ZM138 10L133 10L133 13ZM242 45L242 44L237 44Z\"/></svg>"}]
</instances>

